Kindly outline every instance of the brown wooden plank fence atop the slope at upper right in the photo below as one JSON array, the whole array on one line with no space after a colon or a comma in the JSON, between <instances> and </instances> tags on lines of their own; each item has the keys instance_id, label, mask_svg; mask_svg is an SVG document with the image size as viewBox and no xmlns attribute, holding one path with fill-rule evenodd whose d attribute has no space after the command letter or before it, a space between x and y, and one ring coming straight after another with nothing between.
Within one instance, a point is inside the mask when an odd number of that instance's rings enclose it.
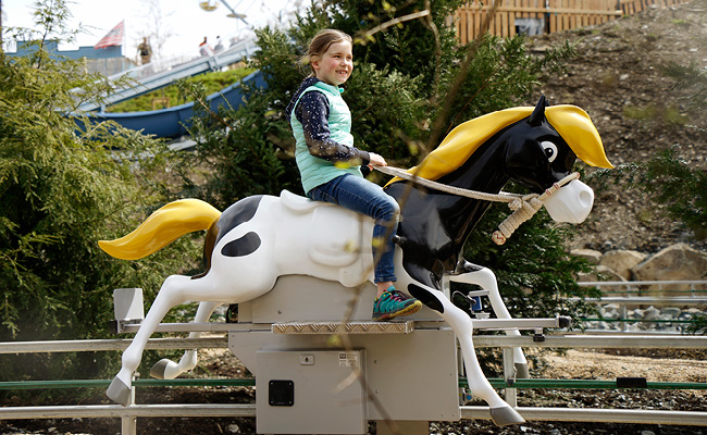
<instances>
[{"instance_id":1,"label":"brown wooden plank fence atop the slope at upper right","mask_svg":"<svg viewBox=\"0 0 707 435\"><path fill-rule=\"evenodd\" d=\"M649 8L663 8L689 0L472 0L451 17L461 44L483 33L483 22L500 2L488 23L488 33L508 37L570 30L606 23Z\"/></svg>"}]
</instances>

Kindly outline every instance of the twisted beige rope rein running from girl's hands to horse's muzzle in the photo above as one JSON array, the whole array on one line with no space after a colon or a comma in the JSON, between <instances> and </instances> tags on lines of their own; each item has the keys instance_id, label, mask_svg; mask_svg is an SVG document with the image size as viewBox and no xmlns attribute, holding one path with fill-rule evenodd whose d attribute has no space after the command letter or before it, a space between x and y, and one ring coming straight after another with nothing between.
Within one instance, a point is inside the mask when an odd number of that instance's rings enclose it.
<instances>
[{"instance_id":1,"label":"twisted beige rope rein running from girl's hands to horse's muzzle","mask_svg":"<svg viewBox=\"0 0 707 435\"><path fill-rule=\"evenodd\" d=\"M483 201L507 202L508 208L513 212L508 215L508 217L506 217L504 222L498 225L498 229L492 234L491 238L496 245L504 245L508 237L510 237L523 222L533 217L533 215L537 213L537 211L543 207L543 202L545 199L547 199L547 197L559 190L560 187L565 186L573 179L579 179L580 177L580 174L578 172L573 172L559 182L553 184L553 186L548 187L542 195L519 195L508 194L505 191L501 191L499 194L486 194L484 191L463 189L461 187L448 186L442 183L433 182L431 179L421 178L399 167L373 166L373 169L384 174L393 175L408 182L412 182L420 186L444 191L447 194L452 194L466 198L480 199Z\"/></svg>"}]
</instances>

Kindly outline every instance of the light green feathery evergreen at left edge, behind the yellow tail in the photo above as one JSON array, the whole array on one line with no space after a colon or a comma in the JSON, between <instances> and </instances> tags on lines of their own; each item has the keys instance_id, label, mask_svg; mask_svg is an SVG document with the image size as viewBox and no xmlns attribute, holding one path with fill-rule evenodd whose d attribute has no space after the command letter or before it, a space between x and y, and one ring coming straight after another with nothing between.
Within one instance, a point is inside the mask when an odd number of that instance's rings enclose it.
<instances>
[{"instance_id":1,"label":"light green feathery evergreen at left edge, behind the yellow tail","mask_svg":"<svg viewBox=\"0 0 707 435\"><path fill-rule=\"evenodd\" d=\"M139 133L66 115L107 90L44 49L67 14L61 0L39 2L37 50L0 53L0 341L106 337L114 288L154 291L185 263L166 252L119 261L98 248L166 200L169 153ZM89 377L119 361L107 352L2 356L0 378Z\"/></svg>"}]
</instances>

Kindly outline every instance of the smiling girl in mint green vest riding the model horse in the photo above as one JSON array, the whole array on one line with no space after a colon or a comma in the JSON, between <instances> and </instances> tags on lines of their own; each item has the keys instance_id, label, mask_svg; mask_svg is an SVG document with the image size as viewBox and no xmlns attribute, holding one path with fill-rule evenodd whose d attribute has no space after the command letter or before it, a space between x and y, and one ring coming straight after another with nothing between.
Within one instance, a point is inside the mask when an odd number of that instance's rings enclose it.
<instances>
[{"instance_id":1,"label":"smiling girl in mint green vest riding the model horse","mask_svg":"<svg viewBox=\"0 0 707 435\"><path fill-rule=\"evenodd\" d=\"M373 258L377 297L373 320L415 313L422 303L396 290L393 236L400 208L383 189L363 178L361 165L385 166L385 159L354 147L351 112L342 98L354 70L351 37L343 32L318 33L305 58L311 67L287 107L297 141L296 160L307 196L374 219Z\"/></svg>"}]
</instances>

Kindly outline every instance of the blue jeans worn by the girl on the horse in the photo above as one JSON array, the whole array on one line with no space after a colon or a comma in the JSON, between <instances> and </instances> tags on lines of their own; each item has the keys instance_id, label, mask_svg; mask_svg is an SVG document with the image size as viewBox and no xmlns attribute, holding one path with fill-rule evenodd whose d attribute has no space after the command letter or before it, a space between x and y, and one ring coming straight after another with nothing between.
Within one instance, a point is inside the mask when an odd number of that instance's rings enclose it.
<instances>
[{"instance_id":1,"label":"blue jeans worn by the girl on the horse","mask_svg":"<svg viewBox=\"0 0 707 435\"><path fill-rule=\"evenodd\" d=\"M373 217L373 259L375 283L397 281L393 258L393 236L398 227L400 207L383 189L365 178L345 174L307 192L315 201L331 202ZM375 243L379 240L379 243ZM376 246L380 249L376 249ZM379 257L380 256L380 257Z\"/></svg>"}]
</instances>

